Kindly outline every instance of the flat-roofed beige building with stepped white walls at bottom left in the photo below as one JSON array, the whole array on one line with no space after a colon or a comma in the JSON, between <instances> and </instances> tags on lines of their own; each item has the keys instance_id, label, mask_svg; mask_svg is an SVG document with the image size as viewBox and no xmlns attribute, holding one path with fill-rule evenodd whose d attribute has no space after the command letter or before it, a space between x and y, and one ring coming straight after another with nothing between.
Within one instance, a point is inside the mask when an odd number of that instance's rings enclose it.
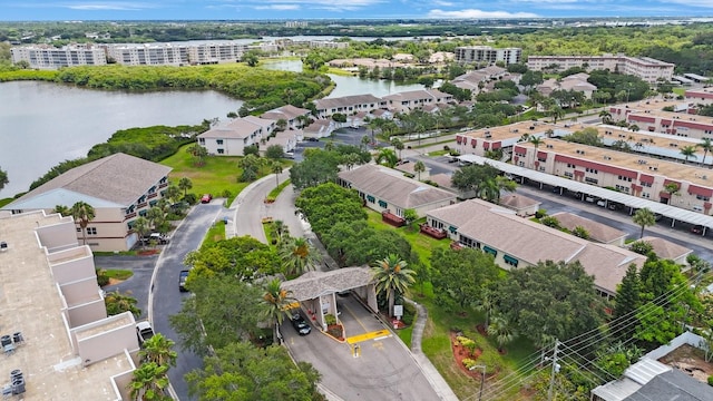
<instances>
[{"instance_id":1,"label":"flat-roofed beige building with stepped white walls at bottom left","mask_svg":"<svg viewBox=\"0 0 713 401\"><path fill-rule=\"evenodd\" d=\"M75 227L43 211L0 212L3 399L129 399L136 322L130 312L107 316L94 255Z\"/></svg>"}]
</instances>

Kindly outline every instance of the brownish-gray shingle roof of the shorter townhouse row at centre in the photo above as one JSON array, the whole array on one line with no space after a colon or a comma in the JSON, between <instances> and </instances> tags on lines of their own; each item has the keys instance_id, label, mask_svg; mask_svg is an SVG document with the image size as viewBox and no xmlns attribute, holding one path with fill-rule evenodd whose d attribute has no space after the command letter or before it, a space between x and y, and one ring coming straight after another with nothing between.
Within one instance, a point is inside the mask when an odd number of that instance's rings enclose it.
<instances>
[{"instance_id":1,"label":"brownish-gray shingle roof of the shorter townhouse row at centre","mask_svg":"<svg viewBox=\"0 0 713 401\"><path fill-rule=\"evenodd\" d=\"M456 199L456 195L447 190L407 178L401 173L383 166L364 165L340 172L339 177L349 182L354 189L374 195L404 209Z\"/></svg>"}]
</instances>

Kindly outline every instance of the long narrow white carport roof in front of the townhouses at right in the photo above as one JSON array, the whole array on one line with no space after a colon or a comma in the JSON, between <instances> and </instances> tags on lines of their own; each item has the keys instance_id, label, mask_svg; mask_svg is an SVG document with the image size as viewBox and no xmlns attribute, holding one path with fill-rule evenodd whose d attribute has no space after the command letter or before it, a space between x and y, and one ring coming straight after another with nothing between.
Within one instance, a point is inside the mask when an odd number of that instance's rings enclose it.
<instances>
[{"instance_id":1,"label":"long narrow white carport roof in front of the townhouses at right","mask_svg":"<svg viewBox=\"0 0 713 401\"><path fill-rule=\"evenodd\" d=\"M568 178L536 172L525 167L514 166L511 164L497 162L497 160L488 159L488 158L476 156L476 155L463 155L463 156L458 156L458 158L463 162L479 164L479 165L488 164L505 174L508 174L511 176L520 176L520 177L525 177L527 179L531 179L534 182L540 183L540 189L543 185L551 185L555 187L559 187L560 195L564 189L568 189L572 192L582 193L583 197L586 194L586 195L592 195L593 197L604 199L607 203L616 202L622 205L628 206L629 214L633 214L634 209L646 207L654 213L657 213L662 216L670 217L672 227L675 226L676 222L684 222L692 225L701 225L703 226L703 231L701 235L705 235L705 232L707 231L707 228L713 227L713 216L707 216L697 212L686 211L675 206L668 206L666 204L662 204L658 202L639 198L636 196L618 193L612 189L606 189L598 186L579 183Z\"/></svg>"}]
</instances>

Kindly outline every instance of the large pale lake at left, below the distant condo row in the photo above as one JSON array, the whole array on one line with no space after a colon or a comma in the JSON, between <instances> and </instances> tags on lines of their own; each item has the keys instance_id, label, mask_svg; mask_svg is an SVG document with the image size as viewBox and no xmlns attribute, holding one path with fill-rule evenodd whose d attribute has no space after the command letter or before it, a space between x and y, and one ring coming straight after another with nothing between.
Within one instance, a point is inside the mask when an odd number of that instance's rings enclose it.
<instances>
[{"instance_id":1,"label":"large pale lake at left, below the distant condo row","mask_svg":"<svg viewBox=\"0 0 713 401\"><path fill-rule=\"evenodd\" d=\"M0 84L0 198L25 192L58 163L87 156L115 131L226 119L242 101L215 91L127 94L49 82Z\"/></svg>"}]
</instances>

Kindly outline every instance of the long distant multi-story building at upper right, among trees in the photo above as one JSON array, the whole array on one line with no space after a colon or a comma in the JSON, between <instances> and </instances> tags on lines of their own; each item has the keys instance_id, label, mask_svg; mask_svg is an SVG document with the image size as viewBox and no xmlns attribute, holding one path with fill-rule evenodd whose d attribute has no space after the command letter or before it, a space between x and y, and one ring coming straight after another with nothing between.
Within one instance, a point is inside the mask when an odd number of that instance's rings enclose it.
<instances>
[{"instance_id":1,"label":"long distant multi-story building at upper right, among trees","mask_svg":"<svg viewBox=\"0 0 713 401\"><path fill-rule=\"evenodd\" d=\"M564 71L573 67L586 68L587 71L600 69L618 71L636 76L648 84L654 84L661 80L670 81L673 77L675 65L648 57L628 57L624 55L529 56L527 58L527 68L535 71L547 68L556 68L558 71Z\"/></svg>"}]
</instances>

